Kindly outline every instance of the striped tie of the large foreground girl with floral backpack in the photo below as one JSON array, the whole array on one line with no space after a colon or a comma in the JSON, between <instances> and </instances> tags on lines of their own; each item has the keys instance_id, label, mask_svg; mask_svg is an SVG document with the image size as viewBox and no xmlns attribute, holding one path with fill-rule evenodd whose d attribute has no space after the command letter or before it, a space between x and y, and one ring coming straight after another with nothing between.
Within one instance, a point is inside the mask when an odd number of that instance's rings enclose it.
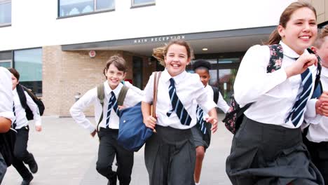
<instances>
[{"instance_id":1,"label":"striped tie of the large foreground girl with floral backpack","mask_svg":"<svg viewBox=\"0 0 328 185\"><path fill-rule=\"evenodd\" d=\"M299 100L295 102L292 111L290 111L286 119L286 123L287 123L287 121L289 121L289 119L291 118L292 123L295 127L299 123L304 113L306 102L308 102L308 97L310 96L312 85L313 85L312 73L310 72L310 69L306 69L306 71L304 71L301 74L301 78L302 78L303 90L299 95Z\"/></svg>"}]
</instances>

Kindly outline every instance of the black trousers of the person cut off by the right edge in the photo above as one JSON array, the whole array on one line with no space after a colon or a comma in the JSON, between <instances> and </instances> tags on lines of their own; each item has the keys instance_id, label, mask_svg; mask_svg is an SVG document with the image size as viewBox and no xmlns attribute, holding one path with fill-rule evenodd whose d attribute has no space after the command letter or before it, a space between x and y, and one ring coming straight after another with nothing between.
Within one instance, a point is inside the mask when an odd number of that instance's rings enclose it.
<instances>
[{"instance_id":1,"label":"black trousers of the person cut off by the right edge","mask_svg":"<svg viewBox=\"0 0 328 185\"><path fill-rule=\"evenodd\" d=\"M310 142L303 137L303 142L308 147L312 162L324 178L324 184L328 184L328 142Z\"/></svg>"}]
</instances>

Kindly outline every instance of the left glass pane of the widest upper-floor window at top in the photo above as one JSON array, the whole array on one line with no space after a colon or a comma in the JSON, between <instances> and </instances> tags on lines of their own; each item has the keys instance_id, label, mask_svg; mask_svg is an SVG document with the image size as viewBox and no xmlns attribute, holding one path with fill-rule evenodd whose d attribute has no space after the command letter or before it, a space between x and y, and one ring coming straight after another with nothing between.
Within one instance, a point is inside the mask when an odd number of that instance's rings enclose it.
<instances>
[{"instance_id":1,"label":"left glass pane of the widest upper-floor window at top","mask_svg":"<svg viewBox=\"0 0 328 185\"><path fill-rule=\"evenodd\" d=\"M94 11L93 0L60 0L60 16Z\"/></svg>"}]
</instances>

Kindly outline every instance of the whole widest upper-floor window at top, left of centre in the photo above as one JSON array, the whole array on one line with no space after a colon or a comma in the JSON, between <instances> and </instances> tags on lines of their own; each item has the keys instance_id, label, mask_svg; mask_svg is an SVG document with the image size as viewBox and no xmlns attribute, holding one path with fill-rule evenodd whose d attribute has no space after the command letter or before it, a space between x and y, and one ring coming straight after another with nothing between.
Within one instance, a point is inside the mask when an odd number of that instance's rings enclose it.
<instances>
[{"instance_id":1,"label":"whole widest upper-floor window at top, left of centre","mask_svg":"<svg viewBox=\"0 0 328 185\"><path fill-rule=\"evenodd\" d=\"M114 0L59 0L59 17L114 10Z\"/></svg>"}]
</instances>

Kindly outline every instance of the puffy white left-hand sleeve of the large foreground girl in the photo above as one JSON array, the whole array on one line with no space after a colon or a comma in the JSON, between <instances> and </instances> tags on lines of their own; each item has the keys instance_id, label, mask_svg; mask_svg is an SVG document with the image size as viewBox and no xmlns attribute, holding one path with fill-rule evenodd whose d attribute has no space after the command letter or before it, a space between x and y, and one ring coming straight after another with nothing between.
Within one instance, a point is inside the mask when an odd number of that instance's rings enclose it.
<instances>
[{"instance_id":1,"label":"puffy white left-hand sleeve of the large foreground girl","mask_svg":"<svg viewBox=\"0 0 328 185\"><path fill-rule=\"evenodd\" d=\"M241 107L256 102L275 86L287 79L285 69L266 72L270 60L270 50L266 46L252 46L240 63L233 85L235 100Z\"/></svg>"}]
</instances>

